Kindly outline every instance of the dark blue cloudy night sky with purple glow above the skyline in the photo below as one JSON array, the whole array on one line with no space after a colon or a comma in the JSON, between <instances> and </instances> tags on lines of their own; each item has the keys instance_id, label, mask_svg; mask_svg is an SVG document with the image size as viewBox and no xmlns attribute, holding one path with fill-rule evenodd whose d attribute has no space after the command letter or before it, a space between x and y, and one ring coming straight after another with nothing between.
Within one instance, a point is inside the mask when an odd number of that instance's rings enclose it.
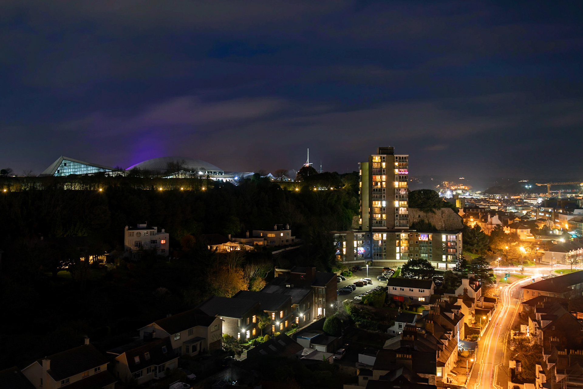
<instances>
[{"instance_id":1,"label":"dark blue cloudy night sky with purple glow above the skyline","mask_svg":"<svg viewBox=\"0 0 583 389\"><path fill-rule=\"evenodd\" d=\"M583 1L0 0L0 167L581 177Z\"/></svg>"}]
</instances>

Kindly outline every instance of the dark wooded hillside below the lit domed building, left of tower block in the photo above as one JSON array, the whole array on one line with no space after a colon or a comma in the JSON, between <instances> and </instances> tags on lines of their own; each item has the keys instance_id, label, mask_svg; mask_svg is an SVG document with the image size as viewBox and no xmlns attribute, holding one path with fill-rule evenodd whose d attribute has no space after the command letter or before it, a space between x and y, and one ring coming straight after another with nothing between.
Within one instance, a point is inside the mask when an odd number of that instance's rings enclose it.
<instances>
[{"instance_id":1,"label":"dark wooded hillside below the lit domed building, left of tower block","mask_svg":"<svg viewBox=\"0 0 583 389\"><path fill-rule=\"evenodd\" d=\"M0 331L12 334L0 338L0 369L78 345L85 335L102 349L113 347L147 322L209 296L261 289L274 266L329 270L335 265L329 232L348 229L358 212L358 187L348 182L335 190L301 183L284 190L261 177L238 185L200 181L204 186L192 190L143 190L116 177L86 177L83 185L92 190L55 184L0 192L0 309L10 318ZM80 260L121 254L124 227L145 221L170 233L180 258L146 253L140 262L119 258L107 267ZM199 238L286 223L303 244L282 257L261 250L219 255ZM78 237L89 252L78 251Z\"/></svg>"}]
</instances>

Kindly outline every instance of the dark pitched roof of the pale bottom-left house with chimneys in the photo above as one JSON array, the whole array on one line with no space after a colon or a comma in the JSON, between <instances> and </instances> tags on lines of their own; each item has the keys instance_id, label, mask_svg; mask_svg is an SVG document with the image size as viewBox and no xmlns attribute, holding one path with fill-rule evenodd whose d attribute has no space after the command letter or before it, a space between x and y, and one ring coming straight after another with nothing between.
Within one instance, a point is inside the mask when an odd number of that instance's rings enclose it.
<instances>
[{"instance_id":1,"label":"dark pitched roof of the pale bottom-left house with chimneys","mask_svg":"<svg viewBox=\"0 0 583 389\"><path fill-rule=\"evenodd\" d=\"M48 370L48 374L55 381L64 380L109 362L92 344L75 347L46 358L51 360L51 369ZM43 359L38 359L37 363L43 366Z\"/></svg>"}]
</instances>

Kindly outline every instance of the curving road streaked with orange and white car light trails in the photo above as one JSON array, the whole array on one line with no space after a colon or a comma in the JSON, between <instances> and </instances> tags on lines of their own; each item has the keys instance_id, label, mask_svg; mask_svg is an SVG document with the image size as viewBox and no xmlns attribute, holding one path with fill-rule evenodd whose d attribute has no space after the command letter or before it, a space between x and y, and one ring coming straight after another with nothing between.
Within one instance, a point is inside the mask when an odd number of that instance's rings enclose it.
<instances>
[{"instance_id":1,"label":"curving road streaked with orange and white car light trails","mask_svg":"<svg viewBox=\"0 0 583 389\"><path fill-rule=\"evenodd\" d=\"M540 274L533 274L536 281L540 281ZM505 388L505 378L497 380L496 366L503 366L505 339L512 321L518 312L519 288L531 282L532 277L520 279L503 287L501 292L501 306L490 321L486 332L480 339L476 355L476 366L470 377L468 388L490 389Z\"/></svg>"}]
</instances>

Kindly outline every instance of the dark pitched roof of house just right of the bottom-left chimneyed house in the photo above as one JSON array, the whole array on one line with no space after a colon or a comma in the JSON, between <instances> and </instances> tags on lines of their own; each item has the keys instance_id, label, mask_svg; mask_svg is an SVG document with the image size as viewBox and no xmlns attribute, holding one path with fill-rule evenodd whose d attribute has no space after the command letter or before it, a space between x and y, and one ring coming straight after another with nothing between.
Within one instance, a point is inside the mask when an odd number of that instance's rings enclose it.
<instances>
[{"instance_id":1,"label":"dark pitched roof of house just right of the bottom-left chimneyed house","mask_svg":"<svg viewBox=\"0 0 583 389\"><path fill-rule=\"evenodd\" d=\"M153 341L139 339L130 344L111 349L107 353L116 356L125 353L129 371L132 373L145 369L148 366L161 365L162 363L178 358L174 354L169 337L154 339ZM135 363L136 357L138 357L138 363Z\"/></svg>"}]
</instances>

